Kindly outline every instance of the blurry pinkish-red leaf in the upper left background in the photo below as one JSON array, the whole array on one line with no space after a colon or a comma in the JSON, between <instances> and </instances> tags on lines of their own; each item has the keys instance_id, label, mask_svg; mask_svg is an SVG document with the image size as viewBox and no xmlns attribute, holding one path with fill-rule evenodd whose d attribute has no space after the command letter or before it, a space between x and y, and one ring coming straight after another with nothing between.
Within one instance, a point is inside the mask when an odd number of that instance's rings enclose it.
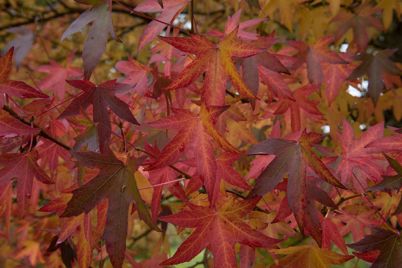
<instances>
[{"instance_id":1,"label":"blurry pinkish-red leaf in the upper left background","mask_svg":"<svg viewBox=\"0 0 402 268\"><path fill-rule=\"evenodd\" d=\"M42 65L35 68L36 71L50 73L47 77L38 82L41 90L54 89L56 96L64 100L66 93L66 79L82 77L83 73L78 67L71 66L75 51L66 57L66 67L57 61L49 59L50 65Z\"/></svg>"}]
</instances>

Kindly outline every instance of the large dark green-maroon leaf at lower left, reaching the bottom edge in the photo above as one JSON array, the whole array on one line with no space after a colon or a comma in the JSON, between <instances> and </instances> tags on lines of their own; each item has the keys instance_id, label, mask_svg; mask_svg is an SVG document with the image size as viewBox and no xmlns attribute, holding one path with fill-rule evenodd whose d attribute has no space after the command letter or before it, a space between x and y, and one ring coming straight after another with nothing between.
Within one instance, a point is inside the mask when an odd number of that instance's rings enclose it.
<instances>
[{"instance_id":1,"label":"large dark green-maroon leaf at lower left, reaching the bottom edge","mask_svg":"<svg viewBox=\"0 0 402 268\"><path fill-rule=\"evenodd\" d=\"M72 155L82 165L99 169L99 172L95 178L73 190L73 197L67 203L67 208L61 217L88 213L107 198L109 203L102 238L105 239L113 267L121 267L126 248L127 217L130 204L134 200L140 218L154 230L159 230L153 224L136 186L133 171L138 168L139 163L134 163L136 160L131 156L127 156L127 162L123 163L112 151L108 153L72 151Z\"/></svg>"}]
</instances>

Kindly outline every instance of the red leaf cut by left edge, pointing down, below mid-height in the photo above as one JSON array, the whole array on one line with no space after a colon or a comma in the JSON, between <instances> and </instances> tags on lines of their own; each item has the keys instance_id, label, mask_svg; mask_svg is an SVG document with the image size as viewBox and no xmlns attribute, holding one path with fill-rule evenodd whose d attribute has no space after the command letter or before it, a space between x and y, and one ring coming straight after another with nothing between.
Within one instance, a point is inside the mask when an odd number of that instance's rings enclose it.
<instances>
[{"instance_id":1,"label":"red leaf cut by left edge, pointing down, below mid-height","mask_svg":"<svg viewBox=\"0 0 402 268\"><path fill-rule=\"evenodd\" d=\"M38 166L38 152L5 153L0 155L0 163L6 164L0 170L0 185L17 177L17 202L23 217L31 199L34 177L45 184L54 184L49 176Z\"/></svg>"}]
</instances>

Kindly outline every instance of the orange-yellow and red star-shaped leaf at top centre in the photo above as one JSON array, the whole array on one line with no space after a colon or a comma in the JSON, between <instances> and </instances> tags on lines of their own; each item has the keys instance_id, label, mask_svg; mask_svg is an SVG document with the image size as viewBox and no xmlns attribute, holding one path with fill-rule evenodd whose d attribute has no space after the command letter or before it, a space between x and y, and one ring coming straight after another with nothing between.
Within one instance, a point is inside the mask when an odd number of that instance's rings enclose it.
<instances>
[{"instance_id":1,"label":"orange-yellow and red star-shaped leaf at top centre","mask_svg":"<svg viewBox=\"0 0 402 268\"><path fill-rule=\"evenodd\" d=\"M244 83L232 61L232 57L251 57L266 51L245 42L236 42L236 27L218 45L208 39L191 35L191 38L161 37L161 40L171 44L181 51L194 54L196 57L184 68L179 77L163 90L173 90L188 87L205 72L201 90L201 100L206 105L225 105L226 77L243 96L257 98Z\"/></svg>"}]
</instances>

